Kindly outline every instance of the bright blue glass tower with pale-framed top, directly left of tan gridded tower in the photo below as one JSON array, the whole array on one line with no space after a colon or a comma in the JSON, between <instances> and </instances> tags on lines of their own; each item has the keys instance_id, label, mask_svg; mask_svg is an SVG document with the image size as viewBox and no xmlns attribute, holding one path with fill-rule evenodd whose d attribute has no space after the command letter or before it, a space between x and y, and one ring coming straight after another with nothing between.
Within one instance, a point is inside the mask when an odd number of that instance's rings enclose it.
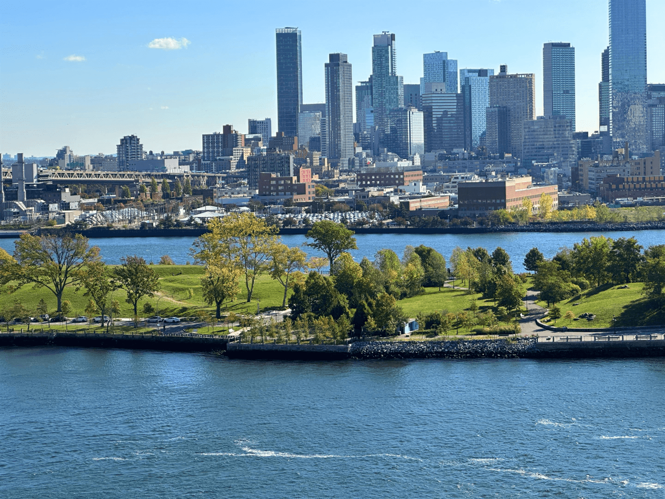
<instances>
[{"instance_id":1,"label":"bright blue glass tower with pale-framed top, directly left of tan gridded tower","mask_svg":"<svg viewBox=\"0 0 665 499\"><path fill-rule=\"evenodd\" d=\"M460 69L460 90L464 98L464 148L480 145L487 130L485 110L489 107L489 77L493 69Z\"/></svg>"}]
</instances>

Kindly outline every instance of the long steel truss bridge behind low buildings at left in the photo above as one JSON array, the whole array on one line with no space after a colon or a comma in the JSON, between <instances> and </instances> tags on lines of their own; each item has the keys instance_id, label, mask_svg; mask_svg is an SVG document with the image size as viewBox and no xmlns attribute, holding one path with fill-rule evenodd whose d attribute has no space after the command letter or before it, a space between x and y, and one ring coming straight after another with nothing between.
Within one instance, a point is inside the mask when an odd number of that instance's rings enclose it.
<instances>
[{"instance_id":1,"label":"long steel truss bridge behind low buildings at left","mask_svg":"<svg viewBox=\"0 0 665 499\"><path fill-rule=\"evenodd\" d=\"M143 172L82 172L77 170L43 170L39 172L38 182L53 182L54 184L150 184L154 178L161 182L164 178L181 182L189 178L194 188L211 187L220 181L245 178L245 170L236 170L225 173L143 173ZM10 179L11 170L2 170L2 178Z\"/></svg>"}]
</instances>

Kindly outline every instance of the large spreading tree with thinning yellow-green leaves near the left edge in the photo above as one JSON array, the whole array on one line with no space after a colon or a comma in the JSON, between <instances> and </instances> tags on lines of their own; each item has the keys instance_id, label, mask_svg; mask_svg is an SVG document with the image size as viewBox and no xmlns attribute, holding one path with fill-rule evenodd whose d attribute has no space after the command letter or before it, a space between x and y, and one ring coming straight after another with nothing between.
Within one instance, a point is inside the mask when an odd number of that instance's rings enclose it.
<instances>
[{"instance_id":1,"label":"large spreading tree with thinning yellow-green leaves near the left edge","mask_svg":"<svg viewBox=\"0 0 665 499\"><path fill-rule=\"evenodd\" d=\"M32 283L35 289L46 287L58 301L62 311L66 285L78 285L87 265L99 261L99 248L90 248L87 238L71 236L30 236L23 234L15 242L15 263L3 265L3 275L10 275L19 287Z\"/></svg>"}]
</instances>

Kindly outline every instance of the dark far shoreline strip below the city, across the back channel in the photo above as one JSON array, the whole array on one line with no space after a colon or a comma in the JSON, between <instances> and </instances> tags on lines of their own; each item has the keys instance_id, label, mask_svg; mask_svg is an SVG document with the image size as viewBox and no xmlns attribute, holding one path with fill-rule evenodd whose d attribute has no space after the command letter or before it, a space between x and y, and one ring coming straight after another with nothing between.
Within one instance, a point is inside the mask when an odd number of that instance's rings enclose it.
<instances>
[{"instance_id":1,"label":"dark far shoreline strip below the city, across the back channel","mask_svg":"<svg viewBox=\"0 0 665 499\"><path fill-rule=\"evenodd\" d=\"M497 227L360 227L351 228L355 234L493 234L511 232L614 232L614 231L637 231L637 230L663 230L665 222L626 222L621 224L597 224L589 222L555 222L543 224L533 222L525 226L508 225ZM280 235L307 234L309 228L281 228ZM34 231L32 231L34 232ZM67 232L64 228L39 229L38 235L48 234L61 235ZM81 234L86 238L198 238L205 234L207 228L196 229L108 229L92 228L86 230L75 230L74 234ZM0 231L0 238L17 239L21 233L29 234L31 231Z\"/></svg>"}]
</instances>

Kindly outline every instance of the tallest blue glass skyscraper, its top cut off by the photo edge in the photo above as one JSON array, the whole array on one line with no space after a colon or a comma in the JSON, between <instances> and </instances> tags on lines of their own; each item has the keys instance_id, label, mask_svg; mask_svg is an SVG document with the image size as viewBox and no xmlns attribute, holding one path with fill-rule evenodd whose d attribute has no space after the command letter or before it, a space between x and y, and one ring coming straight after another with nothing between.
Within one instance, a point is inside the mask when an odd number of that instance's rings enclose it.
<instances>
[{"instance_id":1,"label":"tallest blue glass skyscraper, its top cut off by the photo edge","mask_svg":"<svg viewBox=\"0 0 665 499\"><path fill-rule=\"evenodd\" d=\"M609 0L610 134L614 146L648 150L646 130L646 1Z\"/></svg>"}]
</instances>

